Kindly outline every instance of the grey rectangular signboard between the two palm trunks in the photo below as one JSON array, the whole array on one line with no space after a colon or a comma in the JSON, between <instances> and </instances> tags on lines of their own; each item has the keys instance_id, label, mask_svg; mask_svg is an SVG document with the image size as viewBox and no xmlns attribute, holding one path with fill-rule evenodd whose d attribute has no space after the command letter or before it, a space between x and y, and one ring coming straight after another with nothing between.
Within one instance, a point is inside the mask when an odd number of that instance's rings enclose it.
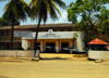
<instances>
[{"instance_id":1,"label":"grey rectangular signboard between the two palm trunks","mask_svg":"<svg viewBox=\"0 0 109 78\"><path fill-rule=\"evenodd\" d=\"M28 38L33 38L33 31L14 30L14 37L28 37Z\"/></svg>"}]
</instances>

